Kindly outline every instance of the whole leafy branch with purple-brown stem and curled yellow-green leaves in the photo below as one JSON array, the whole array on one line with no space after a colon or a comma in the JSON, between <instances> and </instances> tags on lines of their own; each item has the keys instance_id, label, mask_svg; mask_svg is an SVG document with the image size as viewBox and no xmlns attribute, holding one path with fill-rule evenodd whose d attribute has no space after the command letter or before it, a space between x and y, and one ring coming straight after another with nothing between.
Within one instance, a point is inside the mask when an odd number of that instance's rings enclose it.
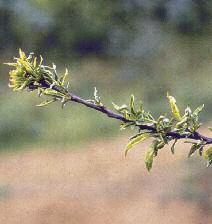
<instances>
[{"instance_id":1,"label":"whole leafy branch with purple-brown stem and curled yellow-green leaves","mask_svg":"<svg viewBox=\"0 0 212 224\"><path fill-rule=\"evenodd\" d=\"M208 166L212 165L212 147L205 148L206 145L212 144L212 138L203 136L198 132L201 126L199 114L204 105L196 108L194 111L187 107L184 114L182 114L175 98L167 94L171 107L171 117L161 115L158 119L155 119L150 112L144 110L142 103L136 106L134 96L131 95L129 106L125 104L118 106L113 103L116 110L115 113L104 106L96 88L94 99L89 100L82 99L70 92L69 82L66 82L67 69L64 75L59 76L54 64L52 67L42 64L43 59L41 56L38 63L37 58L32 54L27 57L24 52L19 50L19 55L20 57L15 58L14 63L7 63L9 66L15 67L9 73L9 87L14 91L24 89L37 91L39 96L45 95L50 98L37 106L46 106L55 101L60 101L63 108L67 102L76 102L97 110L109 118L121 121L120 127L122 129L135 128L137 133L130 138L125 149L125 155L138 143L147 138L152 138L152 144L146 151L145 156L145 164L148 170L151 169L153 159L158 155L159 150L171 141L174 141L171 146L171 152L174 154L175 145L179 139L186 139L186 143L191 144L188 157L199 151L199 155L203 155L207 160Z\"/></svg>"}]
</instances>

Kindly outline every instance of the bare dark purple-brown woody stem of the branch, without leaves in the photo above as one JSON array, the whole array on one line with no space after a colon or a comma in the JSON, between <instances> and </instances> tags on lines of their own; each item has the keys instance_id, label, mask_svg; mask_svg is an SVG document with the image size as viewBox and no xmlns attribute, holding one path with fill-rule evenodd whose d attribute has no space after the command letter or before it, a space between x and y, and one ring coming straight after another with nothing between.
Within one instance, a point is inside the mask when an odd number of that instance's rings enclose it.
<instances>
[{"instance_id":1,"label":"bare dark purple-brown woody stem of the branch, without leaves","mask_svg":"<svg viewBox=\"0 0 212 224\"><path fill-rule=\"evenodd\" d=\"M72 93L70 93L70 97L71 97L70 101L73 101L73 102L76 102L76 103L79 103L79 104L83 104L86 107L92 108L94 110L97 110L101 113L106 114L110 118L120 120L124 123L132 122L131 120L126 119L124 116L122 116L120 114L114 113L112 110L109 110L104 106L99 106L99 105L96 105L92 102L88 102L88 101L86 101L86 100L84 100L84 99L82 99L82 98L80 98L80 97L78 97L78 96L76 96ZM154 127L149 126L149 125L136 125L136 126L138 126L142 130L151 131L152 133L157 132ZM203 136L203 135L199 134L198 132L194 132L191 135L187 136L185 134L180 134L180 133L175 132L175 131L170 131L166 135L172 137L173 139L186 138L186 139L201 140L201 141L203 140L206 144L212 144L212 138Z\"/></svg>"}]
</instances>

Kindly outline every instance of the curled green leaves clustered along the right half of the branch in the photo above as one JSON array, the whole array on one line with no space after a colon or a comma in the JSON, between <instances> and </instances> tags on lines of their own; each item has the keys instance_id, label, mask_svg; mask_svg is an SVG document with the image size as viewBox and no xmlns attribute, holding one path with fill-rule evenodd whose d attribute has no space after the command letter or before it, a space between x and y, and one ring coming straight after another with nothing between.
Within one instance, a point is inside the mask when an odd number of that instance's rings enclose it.
<instances>
[{"instance_id":1,"label":"curled green leaves clustered along the right half of the branch","mask_svg":"<svg viewBox=\"0 0 212 224\"><path fill-rule=\"evenodd\" d=\"M118 106L113 103L114 109L126 119L130 120L128 123L123 122L120 128L137 127L137 133L130 138L125 148L125 156L135 145L149 138L152 139L152 144L147 149L145 157L145 164L148 171L152 168L154 157L158 155L160 149L164 148L170 142L173 142L171 145L171 152L174 154L175 145L181 138L179 136L184 136L185 138L193 136L201 126L201 123L199 122L199 114L204 108L204 105L196 108L194 111L187 106L184 114L181 115L175 98L167 94L167 99L170 105L171 114L169 116L161 115L158 119L155 119L150 112L146 112L142 103L139 103L138 108L136 108L133 95L130 98L129 106L125 104ZM152 129L149 130L149 127ZM175 136L170 133L175 133ZM200 139L197 142L186 141L186 143L191 144L188 157L192 156L196 151L199 151L199 155L204 155L204 158L208 161L208 166L212 164L211 148L206 149L203 153L204 147L207 145L204 140Z\"/></svg>"}]
</instances>

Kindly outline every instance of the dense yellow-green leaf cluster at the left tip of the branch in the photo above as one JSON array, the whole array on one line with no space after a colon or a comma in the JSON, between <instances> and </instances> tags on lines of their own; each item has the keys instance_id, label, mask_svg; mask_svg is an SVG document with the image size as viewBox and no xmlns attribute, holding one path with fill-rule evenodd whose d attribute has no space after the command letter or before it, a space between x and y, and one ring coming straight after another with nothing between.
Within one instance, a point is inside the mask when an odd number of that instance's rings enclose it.
<instances>
[{"instance_id":1,"label":"dense yellow-green leaf cluster at the left tip of the branch","mask_svg":"<svg viewBox=\"0 0 212 224\"><path fill-rule=\"evenodd\" d=\"M19 49L19 57L14 58L15 62L5 63L14 67L9 72L11 87L14 91L37 90L39 96L42 94L50 97L37 106L45 106L55 101L61 101L62 107L70 100L69 83L66 83L68 70L62 76L58 76L56 66L52 67L43 65L43 58L40 56L38 61L33 53L26 54Z\"/></svg>"}]
</instances>

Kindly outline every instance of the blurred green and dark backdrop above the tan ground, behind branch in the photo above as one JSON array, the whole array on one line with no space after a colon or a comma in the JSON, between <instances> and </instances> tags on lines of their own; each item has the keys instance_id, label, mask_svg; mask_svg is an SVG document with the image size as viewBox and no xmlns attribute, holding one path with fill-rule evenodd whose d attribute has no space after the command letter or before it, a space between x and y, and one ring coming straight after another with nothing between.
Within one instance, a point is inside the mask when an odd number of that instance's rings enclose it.
<instances>
[{"instance_id":1,"label":"blurred green and dark backdrop above the tan ground, behind branch","mask_svg":"<svg viewBox=\"0 0 212 224\"><path fill-rule=\"evenodd\" d=\"M84 98L96 86L105 105L142 99L155 116L166 112L166 92L181 108L205 104L211 119L212 1L0 0L0 149L64 147L120 134L118 123L70 104L37 108L42 99L13 93L9 68L25 52L41 54ZM15 146L15 147L14 147Z\"/></svg>"}]
</instances>

